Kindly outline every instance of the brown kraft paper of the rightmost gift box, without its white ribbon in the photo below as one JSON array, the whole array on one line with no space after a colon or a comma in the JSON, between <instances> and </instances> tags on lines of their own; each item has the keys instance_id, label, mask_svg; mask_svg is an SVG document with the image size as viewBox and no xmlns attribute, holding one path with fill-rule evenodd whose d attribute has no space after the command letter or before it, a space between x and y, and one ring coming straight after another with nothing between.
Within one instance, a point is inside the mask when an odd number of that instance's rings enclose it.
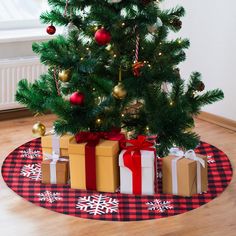
<instances>
[{"instance_id":1,"label":"brown kraft paper of the rightmost gift box, without its white ribbon","mask_svg":"<svg viewBox=\"0 0 236 236\"><path fill-rule=\"evenodd\" d=\"M205 168L201 166L201 191L208 189L207 157L197 154L205 162ZM172 186L172 160L176 156L169 155L162 159L162 190L163 193L173 194ZM177 161L178 196L190 197L197 194L197 161L182 158Z\"/></svg>"}]
</instances>

